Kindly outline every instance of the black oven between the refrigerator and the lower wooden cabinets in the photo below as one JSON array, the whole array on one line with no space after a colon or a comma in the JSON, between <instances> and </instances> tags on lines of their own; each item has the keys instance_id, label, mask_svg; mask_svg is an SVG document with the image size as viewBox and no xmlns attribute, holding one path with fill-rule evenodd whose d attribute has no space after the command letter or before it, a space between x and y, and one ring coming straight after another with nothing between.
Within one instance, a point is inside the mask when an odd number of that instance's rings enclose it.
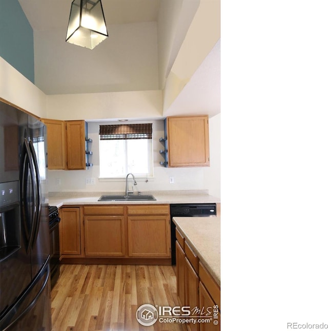
<instances>
[{"instance_id":1,"label":"black oven between the refrigerator and the lower wooden cabinets","mask_svg":"<svg viewBox=\"0 0 328 331\"><path fill-rule=\"evenodd\" d=\"M56 206L49 206L49 234L50 234L50 278L51 288L56 284L59 271L59 213Z\"/></svg>"}]
</instances>

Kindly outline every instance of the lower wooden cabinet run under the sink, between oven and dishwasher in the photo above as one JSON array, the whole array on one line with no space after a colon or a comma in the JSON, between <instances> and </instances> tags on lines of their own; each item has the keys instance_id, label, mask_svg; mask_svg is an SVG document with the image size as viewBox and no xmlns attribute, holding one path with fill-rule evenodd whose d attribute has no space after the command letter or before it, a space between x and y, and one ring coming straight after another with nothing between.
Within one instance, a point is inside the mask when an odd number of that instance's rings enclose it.
<instances>
[{"instance_id":1,"label":"lower wooden cabinet run under the sink, between oven and dishwasher","mask_svg":"<svg viewBox=\"0 0 328 331\"><path fill-rule=\"evenodd\" d=\"M171 264L168 204L85 205L59 213L66 263Z\"/></svg>"}]
</instances>

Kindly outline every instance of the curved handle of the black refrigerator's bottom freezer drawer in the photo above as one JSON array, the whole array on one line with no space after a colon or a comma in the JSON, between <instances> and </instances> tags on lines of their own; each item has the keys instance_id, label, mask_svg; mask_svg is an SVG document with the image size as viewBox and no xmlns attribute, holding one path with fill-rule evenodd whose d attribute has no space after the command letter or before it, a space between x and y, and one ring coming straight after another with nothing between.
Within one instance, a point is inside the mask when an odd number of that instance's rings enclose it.
<instances>
[{"instance_id":1,"label":"curved handle of the black refrigerator's bottom freezer drawer","mask_svg":"<svg viewBox=\"0 0 328 331\"><path fill-rule=\"evenodd\" d=\"M49 260L49 258L48 258ZM24 311L22 313L19 314L19 316L17 316L13 321L12 318L15 316L16 312L18 311L19 307L23 304L24 300L26 299L26 297L30 294L30 292L33 290L33 287L36 285L36 283L43 277L43 275L47 272L47 276L41 286L41 288L39 289L38 293L35 295L35 297L33 298L33 300L31 300L31 302L29 303L29 305L24 309ZM10 311L4 316L4 318L1 320L1 326L4 327L2 330L6 331L7 329L10 329L10 327L15 324L20 318L22 318L26 313L28 313L30 311L30 309L33 308L33 306L36 304L38 298L40 297L40 295L42 295L47 282L49 280L50 277L50 267L49 267L49 263L47 261L47 263L44 265L44 267L42 268L42 270L39 272L39 274L37 275L37 277L34 279L34 281L29 285L29 287L26 289L26 291L24 292L24 294L18 299L18 301L15 303L15 305L10 309Z\"/></svg>"}]
</instances>

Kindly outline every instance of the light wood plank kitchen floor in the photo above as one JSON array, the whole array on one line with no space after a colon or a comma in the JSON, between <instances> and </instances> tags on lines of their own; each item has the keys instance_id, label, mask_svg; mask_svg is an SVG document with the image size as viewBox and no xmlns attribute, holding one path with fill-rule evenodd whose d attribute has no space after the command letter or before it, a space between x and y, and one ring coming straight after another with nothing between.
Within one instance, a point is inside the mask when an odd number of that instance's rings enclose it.
<instances>
[{"instance_id":1,"label":"light wood plank kitchen floor","mask_svg":"<svg viewBox=\"0 0 328 331\"><path fill-rule=\"evenodd\" d=\"M52 331L186 330L185 325L142 326L141 304L177 306L171 265L60 265L51 291Z\"/></svg>"}]
</instances>

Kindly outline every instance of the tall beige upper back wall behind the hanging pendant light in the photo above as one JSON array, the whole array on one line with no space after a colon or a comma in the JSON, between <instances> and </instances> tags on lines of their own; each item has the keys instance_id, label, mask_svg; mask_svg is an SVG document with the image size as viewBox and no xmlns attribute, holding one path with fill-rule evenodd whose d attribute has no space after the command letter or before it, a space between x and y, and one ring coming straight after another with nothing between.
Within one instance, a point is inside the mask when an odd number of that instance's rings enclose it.
<instances>
[{"instance_id":1,"label":"tall beige upper back wall behind the hanging pendant light","mask_svg":"<svg viewBox=\"0 0 328 331\"><path fill-rule=\"evenodd\" d=\"M158 90L156 22L109 25L108 33L91 51L66 43L65 30L35 30L35 85L46 94Z\"/></svg>"}]
</instances>

